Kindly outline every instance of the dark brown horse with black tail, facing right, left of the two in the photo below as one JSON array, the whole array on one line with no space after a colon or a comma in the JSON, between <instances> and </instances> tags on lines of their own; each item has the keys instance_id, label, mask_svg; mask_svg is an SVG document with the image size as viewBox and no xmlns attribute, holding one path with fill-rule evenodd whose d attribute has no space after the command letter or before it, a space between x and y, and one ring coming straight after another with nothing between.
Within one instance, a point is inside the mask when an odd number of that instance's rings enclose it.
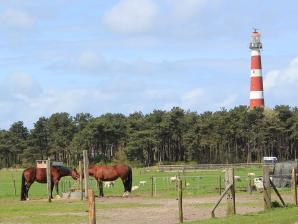
<instances>
[{"instance_id":1,"label":"dark brown horse with black tail, facing right, left of the two","mask_svg":"<svg viewBox=\"0 0 298 224\"><path fill-rule=\"evenodd\" d=\"M51 167L51 197L54 185L56 186L57 195L59 195L58 183L61 177L71 176L77 180L80 178L79 173L76 169L70 169L63 166L52 166ZM22 174L22 188L21 188L21 201L28 199L28 192L30 186L34 181L38 183L47 183L46 168L29 167L23 171Z\"/></svg>"}]
</instances>

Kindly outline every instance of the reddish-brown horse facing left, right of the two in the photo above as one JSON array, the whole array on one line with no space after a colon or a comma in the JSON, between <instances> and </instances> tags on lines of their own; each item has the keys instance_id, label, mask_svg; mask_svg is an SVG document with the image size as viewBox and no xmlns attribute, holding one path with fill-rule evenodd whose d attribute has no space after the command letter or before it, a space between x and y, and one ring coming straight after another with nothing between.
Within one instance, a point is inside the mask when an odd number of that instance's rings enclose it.
<instances>
[{"instance_id":1,"label":"reddish-brown horse facing left, right of the two","mask_svg":"<svg viewBox=\"0 0 298 224\"><path fill-rule=\"evenodd\" d=\"M115 165L115 166L89 166L89 175L93 176L98 183L99 196L103 197L103 181L114 181L119 177L124 185L123 196L128 196L132 187L132 171L129 166Z\"/></svg>"}]
</instances>

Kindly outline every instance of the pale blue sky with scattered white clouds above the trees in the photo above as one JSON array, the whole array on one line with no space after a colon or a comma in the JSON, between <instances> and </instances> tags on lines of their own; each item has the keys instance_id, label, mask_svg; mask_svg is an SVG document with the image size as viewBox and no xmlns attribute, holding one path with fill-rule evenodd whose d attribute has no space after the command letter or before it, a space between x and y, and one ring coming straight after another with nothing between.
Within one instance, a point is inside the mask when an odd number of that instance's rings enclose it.
<instances>
[{"instance_id":1,"label":"pale blue sky with scattered white clouds above the trees","mask_svg":"<svg viewBox=\"0 0 298 224\"><path fill-rule=\"evenodd\" d=\"M253 28L266 107L295 107L297 8L294 0L0 0L0 129L32 128L56 112L248 105Z\"/></svg>"}]
</instances>

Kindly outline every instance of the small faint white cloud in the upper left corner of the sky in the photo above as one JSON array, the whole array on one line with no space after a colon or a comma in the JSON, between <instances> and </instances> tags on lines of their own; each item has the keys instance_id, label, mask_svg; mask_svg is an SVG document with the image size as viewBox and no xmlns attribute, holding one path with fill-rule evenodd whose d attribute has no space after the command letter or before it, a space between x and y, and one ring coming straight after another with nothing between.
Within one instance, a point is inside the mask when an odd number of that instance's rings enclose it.
<instances>
[{"instance_id":1,"label":"small faint white cloud in the upper left corner of the sky","mask_svg":"<svg viewBox=\"0 0 298 224\"><path fill-rule=\"evenodd\" d=\"M25 11L9 9L0 14L0 26L28 29L34 24L33 18Z\"/></svg>"}]
</instances>

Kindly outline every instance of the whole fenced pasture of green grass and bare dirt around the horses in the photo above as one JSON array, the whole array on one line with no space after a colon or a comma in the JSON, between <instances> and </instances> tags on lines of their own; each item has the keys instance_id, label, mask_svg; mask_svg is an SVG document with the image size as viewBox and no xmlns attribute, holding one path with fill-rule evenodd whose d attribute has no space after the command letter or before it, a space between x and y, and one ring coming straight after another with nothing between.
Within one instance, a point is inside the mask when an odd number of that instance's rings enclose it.
<instances>
[{"instance_id":1,"label":"whole fenced pasture of green grass and bare dirt around the horses","mask_svg":"<svg viewBox=\"0 0 298 224\"><path fill-rule=\"evenodd\" d=\"M20 201L21 170L0 170L0 223L86 223L87 204L86 201L55 199L52 203L47 202L46 185L34 183L29 191L29 201ZM254 172L261 175L260 167L237 168L235 175L240 176L236 182L237 214L248 212L259 212L263 210L262 194L254 192L250 195L244 192L247 186L247 173ZM123 185L117 180L113 188L104 188L105 198L96 198L97 223L177 223L177 191L175 182L170 177L176 176L176 172L159 172L157 169L133 169L133 186L138 189L133 191L129 198L122 198ZM181 176L183 174L180 174ZM152 176L153 197L152 194ZM201 170L184 173L184 217L185 221L194 221L210 218L210 210L219 195L219 176L222 176L224 185L224 173L222 169ZM14 181L16 195L14 192ZM140 184L140 182L142 184ZM144 183L145 182L145 183ZM77 188L78 184L70 178L63 182L66 190ZM91 181L95 194L98 195L95 181ZM62 188L60 184L60 189ZM289 190L283 190L286 201L290 201ZM55 197L55 191L53 196ZM273 196L274 198L274 196ZM297 213L297 208L279 209L274 214ZM137 215L135 215L137 214ZM270 212L262 213L260 216L270 216ZM217 217L225 216L224 203L216 212ZM259 215L258 215L259 216ZM235 216L231 220L250 220L243 223L252 223L257 220L255 215ZM140 219L142 218L142 219ZM281 215L280 219L288 218ZM166 221L165 221L166 220ZM220 223L221 219L206 220L204 223ZM230 220L230 219L228 219ZM293 215L291 219L298 221ZM230 223L234 223L231 221ZM274 220L273 220L274 221ZM254 222L264 223L264 222ZM277 222L271 222L277 223ZM289 222L278 222L289 223Z\"/></svg>"}]
</instances>

